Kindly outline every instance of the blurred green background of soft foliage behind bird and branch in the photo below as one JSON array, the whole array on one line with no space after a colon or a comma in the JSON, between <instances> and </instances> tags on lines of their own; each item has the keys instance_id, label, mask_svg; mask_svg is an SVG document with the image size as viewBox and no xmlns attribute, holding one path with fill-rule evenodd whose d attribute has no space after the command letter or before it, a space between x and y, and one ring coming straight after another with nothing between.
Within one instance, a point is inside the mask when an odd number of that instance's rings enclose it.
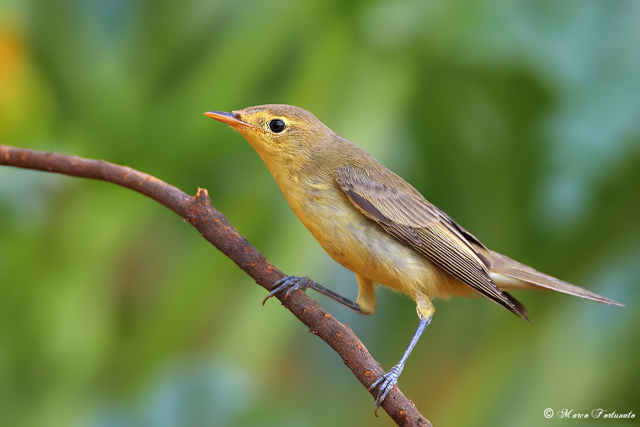
<instances>
[{"instance_id":1,"label":"blurred green background of soft foliage behind bird and branch","mask_svg":"<svg viewBox=\"0 0 640 427\"><path fill-rule=\"evenodd\" d=\"M436 301L400 379L434 426L640 423L637 1L0 0L0 143L205 187L285 273L355 297L257 154L203 116L304 107L487 246L623 302ZM0 167L3 426L390 426L321 340L188 223ZM417 325L315 293L385 369ZM581 420L580 426L601 425Z\"/></svg>"}]
</instances>

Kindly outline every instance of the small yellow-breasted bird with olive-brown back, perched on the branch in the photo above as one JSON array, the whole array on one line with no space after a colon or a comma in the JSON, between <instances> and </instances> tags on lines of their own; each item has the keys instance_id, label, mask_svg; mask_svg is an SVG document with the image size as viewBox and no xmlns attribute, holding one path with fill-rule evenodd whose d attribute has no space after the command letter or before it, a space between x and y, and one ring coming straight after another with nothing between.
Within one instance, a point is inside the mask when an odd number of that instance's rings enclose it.
<instances>
[{"instance_id":1,"label":"small yellow-breasted bird with olive-brown back, perched on the branch","mask_svg":"<svg viewBox=\"0 0 640 427\"><path fill-rule=\"evenodd\" d=\"M400 362L370 387L375 408L385 399L434 313L434 297L480 294L526 319L504 290L550 289L621 305L489 250L430 204L400 176L314 115L292 105L259 105L205 113L247 139L274 176L284 198L320 246L356 273L352 302L306 277L287 276L284 289L312 288L365 315L375 310L375 283L415 300L420 323Z\"/></svg>"}]
</instances>

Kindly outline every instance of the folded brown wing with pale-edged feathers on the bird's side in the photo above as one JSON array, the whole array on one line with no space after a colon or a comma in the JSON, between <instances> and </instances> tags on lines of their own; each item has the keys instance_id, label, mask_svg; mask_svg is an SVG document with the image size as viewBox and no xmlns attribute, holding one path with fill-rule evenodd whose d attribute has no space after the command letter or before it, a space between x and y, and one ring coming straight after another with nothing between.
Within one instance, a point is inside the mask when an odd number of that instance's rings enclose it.
<instances>
[{"instance_id":1,"label":"folded brown wing with pale-edged feathers on the bird's side","mask_svg":"<svg viewBox=\"0 0 640 427\"><path fill-rule=\"evenodd\" d=\"M481 295L526 319L513 298L491 281L491 262L471 245L477 239L447 214L430 204L399 176L385 177L361 167L343 166L334 179L347 198L368 218L399 241L425 255L435 265Z\"/></svg>"}]
</instances>

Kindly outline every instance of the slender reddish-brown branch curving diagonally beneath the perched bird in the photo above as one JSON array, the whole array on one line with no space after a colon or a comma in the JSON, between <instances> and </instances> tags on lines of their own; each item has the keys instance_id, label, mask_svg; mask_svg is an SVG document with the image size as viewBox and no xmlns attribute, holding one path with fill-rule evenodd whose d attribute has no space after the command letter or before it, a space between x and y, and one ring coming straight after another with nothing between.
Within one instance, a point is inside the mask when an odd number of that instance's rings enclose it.
<instances>
[{"instance_id":1,"label":"slender reddish-brown branch curving diagonally beneath the perched bird","mask_svg":"<svg viewBox=\"0 0 640 427\"><path fill-rule=\"evenodd\" d=\"M0 164L101 179L138 191L186 219L263 288L270 290L275 281L284 277L280 270L236 231L223 214L213 209L206 189L198 189L198 194L192 197L154 176L129 167L6 145L0 145ZM329 344L363 386L368 389L375 379L385 373L356 334L325 312L311 297L304 292L293 292L287 300L282 300L283 294L284 292L279 292L277 295L282 305L309 327L311 333ZM375 397L378 389L373 389L370 393ZM398 426L431 426L398 387L394 387L388 394L382 408Z\"/></svg>"}]
</instances>

